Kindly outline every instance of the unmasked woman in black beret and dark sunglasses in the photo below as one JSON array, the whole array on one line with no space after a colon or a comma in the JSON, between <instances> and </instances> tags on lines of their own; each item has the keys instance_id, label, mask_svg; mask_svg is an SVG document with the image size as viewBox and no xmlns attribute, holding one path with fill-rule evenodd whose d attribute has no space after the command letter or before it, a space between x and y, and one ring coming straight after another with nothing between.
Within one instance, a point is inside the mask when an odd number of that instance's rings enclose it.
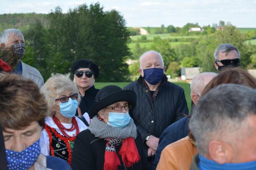
<instances>
[{"instance_id":1,"label":"unmasked woman in black beret and dark sunglasses","mask_svg":"<svg viewBox=\"0 0 256 170\"><path fill-rule=\"evenodd\" d=\"M95 79L99 76L99 68L90 60L79 59L73 64L72 73L74 75L74 82L82 96L81 103L76 111L76 116L81 116L89 112L90 107L94 103L95 96L99 91L93 85Z\"/></svg>"}]
</instances>

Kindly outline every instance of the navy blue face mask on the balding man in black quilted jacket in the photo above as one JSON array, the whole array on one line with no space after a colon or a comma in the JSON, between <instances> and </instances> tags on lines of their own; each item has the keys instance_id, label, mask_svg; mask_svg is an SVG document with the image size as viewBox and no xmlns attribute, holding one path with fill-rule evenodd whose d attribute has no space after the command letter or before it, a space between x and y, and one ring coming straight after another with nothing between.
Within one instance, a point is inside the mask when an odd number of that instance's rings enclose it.
<instances>
[{"instance_id":1,"label":"navy blue face mask on the balding man in black quilted jacket","mask_svg":"<svg viewBox=\"0 0 256 170\"><path fill-rule=\"evenodd\" d=\"M156 85L163 79L163 68L148 68L143 73L144 79L151 85Z\"/></svg>"}]
</instances>

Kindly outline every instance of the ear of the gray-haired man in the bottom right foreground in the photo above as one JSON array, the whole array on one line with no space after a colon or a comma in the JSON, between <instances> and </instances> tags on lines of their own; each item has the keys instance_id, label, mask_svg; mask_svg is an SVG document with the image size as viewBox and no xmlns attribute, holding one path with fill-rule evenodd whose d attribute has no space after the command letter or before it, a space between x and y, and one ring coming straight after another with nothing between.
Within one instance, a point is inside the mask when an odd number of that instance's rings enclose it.
<instances>
[{"instance_id":1,"label":"ear of the gray-haired man in the bottom right foreground","mask_svg":"<svg viewBox=\"0 0 256 170\"><path fill-rule=\"evenodd\" d=\"M209 157L218 164L230 163L232 147L222 141L211 141L208 145Z\"/></svg>"}]
</instances>

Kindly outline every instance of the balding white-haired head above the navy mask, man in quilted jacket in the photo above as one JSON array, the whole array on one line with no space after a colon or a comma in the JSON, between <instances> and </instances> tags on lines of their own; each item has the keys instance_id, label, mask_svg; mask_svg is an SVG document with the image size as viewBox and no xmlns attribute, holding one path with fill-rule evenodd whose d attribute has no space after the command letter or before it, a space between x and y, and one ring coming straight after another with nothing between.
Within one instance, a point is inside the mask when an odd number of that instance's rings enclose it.
<instances>
[{"instance_id":1,"label":"balding white-haired head above the navy mask, man in quilted jacket","mask_svg":"<svg viewBox=\"0 0 256 170\"><path fill-rule=\"evenodd\" d=\"M163 68L162 55L157 51L146 51L140 56L140 68Z\"/></svg>"}]
</instances>

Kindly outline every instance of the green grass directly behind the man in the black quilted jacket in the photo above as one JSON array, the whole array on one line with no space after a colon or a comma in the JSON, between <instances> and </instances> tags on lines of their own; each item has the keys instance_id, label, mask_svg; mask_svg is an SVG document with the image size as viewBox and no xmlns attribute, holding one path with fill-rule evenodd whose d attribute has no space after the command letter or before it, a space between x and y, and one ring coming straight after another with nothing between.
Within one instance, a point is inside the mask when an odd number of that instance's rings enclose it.
<instances>
[{"instance_id":1,"label":"green grass directly behind the man in the black quilted jacket","mask_svg":"<svg viewBox=\"0 0 256 170\"><path fill-rule=\"evenodd\" d=\"M95 82L95 88L101 89L105 87L106 85L117 85L120 88L124 88L126 85L128 85L130 82ZM179 85L184 89L187 105L189 108L189 113L191 109L191 97L190 97L190 84L185 82L175 82L176 85Z\"/></svg>"}]
</instances>

